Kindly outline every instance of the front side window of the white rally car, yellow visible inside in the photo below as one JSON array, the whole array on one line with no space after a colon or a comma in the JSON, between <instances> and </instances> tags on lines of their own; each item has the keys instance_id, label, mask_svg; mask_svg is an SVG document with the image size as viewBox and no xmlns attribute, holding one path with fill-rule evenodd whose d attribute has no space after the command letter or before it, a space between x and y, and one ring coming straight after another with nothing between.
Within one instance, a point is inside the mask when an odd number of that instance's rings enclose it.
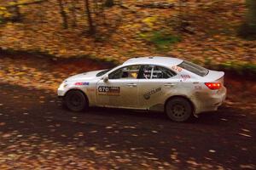
<instances>
[{"instance_id":1,"label":"front side window of the white rally car, yellow visible inside","mask_svg":"<svg viewBox=\"0 0 256 170\"><path fill-rule=\"evenodd\" d=\"M140 65L129 65L113 71L108 75L109 79L137 79Z\"/></svg>"}]
</instances>

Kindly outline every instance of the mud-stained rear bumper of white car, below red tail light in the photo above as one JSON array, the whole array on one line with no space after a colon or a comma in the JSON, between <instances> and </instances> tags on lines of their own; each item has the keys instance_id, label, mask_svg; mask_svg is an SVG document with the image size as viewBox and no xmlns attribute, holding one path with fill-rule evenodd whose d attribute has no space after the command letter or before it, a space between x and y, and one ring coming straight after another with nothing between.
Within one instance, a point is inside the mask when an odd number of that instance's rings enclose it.
<instances>
[{"instance_id":1,"label":"mud-stained rear bumper of white car, below red tail light","mask_svg":"<svg viewBox=\"0 0 256 170\"><path fill-rule=\"evenodd\" d=\"M195 114L200 114L206 111L217 111L218 106L222 105L227 96L227 89L223 88L220 92L211 95L204 95L197 98L195 102Z\"/></svg>"}]
</instances>

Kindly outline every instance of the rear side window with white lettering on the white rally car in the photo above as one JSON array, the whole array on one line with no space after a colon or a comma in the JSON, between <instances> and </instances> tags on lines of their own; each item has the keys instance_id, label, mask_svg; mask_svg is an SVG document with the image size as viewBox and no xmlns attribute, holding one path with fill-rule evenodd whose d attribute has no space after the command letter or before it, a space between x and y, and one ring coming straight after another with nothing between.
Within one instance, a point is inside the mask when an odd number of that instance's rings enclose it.
<instances>
[{"instance_id":1,"label":"rear side window with white lettering on the white rally car","mask_svg":"<svg viewBox=\"0 0 256 170\"><path fill-rule=\"evenodd\" d=\"M175 72L158 65L144 65L142 79L166 79L176 75Z\"/></svg>"}]
</instances>

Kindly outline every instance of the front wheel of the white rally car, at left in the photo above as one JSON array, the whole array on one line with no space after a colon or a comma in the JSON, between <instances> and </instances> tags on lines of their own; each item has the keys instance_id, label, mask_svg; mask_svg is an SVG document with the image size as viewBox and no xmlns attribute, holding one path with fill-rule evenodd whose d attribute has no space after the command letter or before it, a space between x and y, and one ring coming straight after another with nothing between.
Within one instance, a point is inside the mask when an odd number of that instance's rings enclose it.
<instances>
[{"instance_id":1,"label":"front wheel of the white rally car, at left","mask_svg":"<svg viewBox=\"0 0 256 170\"><path fill-rule=\"evenodd\" d=\"M72 90L67 92L65 95L64 105L70 111L84 111L88 108L88 99L83 92L79 90Z\"/></svg>"}]
</instances>

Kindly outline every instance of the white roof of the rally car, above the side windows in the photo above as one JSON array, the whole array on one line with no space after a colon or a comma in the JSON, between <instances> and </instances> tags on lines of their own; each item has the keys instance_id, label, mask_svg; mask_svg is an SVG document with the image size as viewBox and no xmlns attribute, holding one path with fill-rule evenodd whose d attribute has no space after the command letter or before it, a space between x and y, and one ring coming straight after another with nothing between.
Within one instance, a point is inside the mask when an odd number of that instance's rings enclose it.
<instances>
[{"instance_id":1,"label":"white roof of the rally car, above the side windows","mask_svg":"<svg viewBox=\"0 0 256 170\"><path fill-rule=\"evenodd\" d=\"M166 67L179 65L183 62L183 59L177 59L172 57L159 57L159 56L149 56L149 57L137 57L128 59L123 63L123 65L163 65Z\"/></svg>"}]
</instances>

